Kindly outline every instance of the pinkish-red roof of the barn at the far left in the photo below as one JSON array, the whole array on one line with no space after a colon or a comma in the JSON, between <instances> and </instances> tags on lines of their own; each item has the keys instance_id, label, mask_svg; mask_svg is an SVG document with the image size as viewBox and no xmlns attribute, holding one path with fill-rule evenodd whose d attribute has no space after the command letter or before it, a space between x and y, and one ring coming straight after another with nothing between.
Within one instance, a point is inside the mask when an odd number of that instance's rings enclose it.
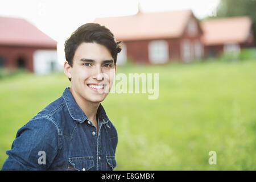
<instances>
[{"instance_id":1,"label":"pinkish-red roof of the barn at the far left","mask_svg":"<svg viewBox=\"0 0 256 182\"><path fill-rule=\"evenodd\" d=\"M0 45L56 48L57 42L27 20L0 16Z\"/></svg>"}]
</instances>

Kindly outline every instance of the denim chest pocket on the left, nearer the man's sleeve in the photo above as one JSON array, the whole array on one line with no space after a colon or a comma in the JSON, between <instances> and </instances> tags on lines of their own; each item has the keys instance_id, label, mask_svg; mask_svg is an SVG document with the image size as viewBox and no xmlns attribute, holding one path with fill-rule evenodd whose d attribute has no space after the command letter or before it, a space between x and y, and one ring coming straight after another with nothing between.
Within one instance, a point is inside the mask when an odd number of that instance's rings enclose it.
<instances>
[{"instance_id":1,"label":"denim chest pocket on the left, nearer the man's sleeve","mask_svg":"<svg viewBox=\"0 0 256 182\"><path fill-rule=\"evenodd\" d=\"M92 156L68 158L68 171L88 171L93 167Z\"/></svg>"}]
</instances>

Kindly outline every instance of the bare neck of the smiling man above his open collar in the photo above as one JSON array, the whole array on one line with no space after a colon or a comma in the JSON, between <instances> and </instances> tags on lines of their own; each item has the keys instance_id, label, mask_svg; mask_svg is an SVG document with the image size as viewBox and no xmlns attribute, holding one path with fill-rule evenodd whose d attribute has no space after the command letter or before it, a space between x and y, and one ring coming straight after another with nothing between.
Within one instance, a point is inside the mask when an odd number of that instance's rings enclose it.
<instances>
[{"instance_id":1,"label":"bare neck of the smiling man above his open collar","mask_svg":"<svg viewBox=\"0 0 256 182\"><path fill-rule=\"evenodd\" d=\"M97 110L98 106L100 105L100 102L89 102L86 101L84 98L79 96L72 87L69 88L70 92L72 93L73 97L75 98L75 101L77 105L84 111L84 114L90 121L97 121Z\"/></svg>"}]
</instances>

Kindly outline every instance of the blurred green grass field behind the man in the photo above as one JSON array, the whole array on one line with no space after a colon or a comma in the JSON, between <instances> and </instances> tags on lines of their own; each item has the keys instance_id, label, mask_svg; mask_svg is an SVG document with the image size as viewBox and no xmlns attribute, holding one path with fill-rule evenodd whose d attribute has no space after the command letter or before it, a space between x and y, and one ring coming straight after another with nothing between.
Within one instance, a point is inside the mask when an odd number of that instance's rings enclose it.
<instances>
[{"instance_id":1,"label":"blurred green grass field behind the man","mask_svg":"<svg viewBox=\"0 0 256 182\"><path fill-rule=\"evenodd\" d=\"M109 94L118 130L115 170L255 170L256 61L119 67L159 73L159 98ZM0 168L16 131L69 86L64 73L0 80ZM209 151L217 164L210 165Z\"/></svg>"}]
</instances>

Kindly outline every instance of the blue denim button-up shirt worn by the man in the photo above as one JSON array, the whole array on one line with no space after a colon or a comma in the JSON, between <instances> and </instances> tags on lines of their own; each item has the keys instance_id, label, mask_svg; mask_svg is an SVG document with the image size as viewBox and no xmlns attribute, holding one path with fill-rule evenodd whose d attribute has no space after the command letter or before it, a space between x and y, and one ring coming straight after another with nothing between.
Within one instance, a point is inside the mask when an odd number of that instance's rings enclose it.
<instances>
[{"instance_id":1,"label":"blue denim button-up shirt worn by the man","mask_svg":"<svg viewBox=\"0 0 256 182\"><path fill-rule=\"evenodd\" d=\"M113 170L117 130L103 106L96 127L69 88L21 127L2 170Z\"/></svg>"}]
</instances>

